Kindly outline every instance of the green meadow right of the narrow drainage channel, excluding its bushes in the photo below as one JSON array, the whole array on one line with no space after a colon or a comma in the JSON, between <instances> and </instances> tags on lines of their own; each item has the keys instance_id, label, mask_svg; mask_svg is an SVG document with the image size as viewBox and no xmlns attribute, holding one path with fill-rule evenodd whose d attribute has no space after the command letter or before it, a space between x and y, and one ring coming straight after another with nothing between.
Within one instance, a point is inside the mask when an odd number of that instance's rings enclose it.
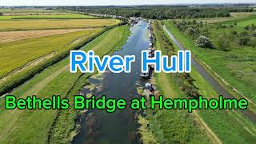
<instances>
[{"instance_id":1,"label":"green meadow right of the narrow drainage channel, excluding its bushes","mask_svg":"<svg viewBox=\"0 0 256 144\"><path fill-rule=\"evenodd\" d=\"M230 51L224 52L217 49L202 49L195 46L194 41L191 40L187 34L180 32L172 22L166 22L166 25L168 25L169 30L184 46L192 50L203 62L206 62L217 74L224 78L226 82L242 92L247 98L256 102L256 91L254 89L256 86L256 51L254 47L240 46L235 38L231 38L226 39L226 41L230 42ZM237 32L243 30L239 22L238 25L234 27L218 29L214 26L212 27L213 28L209 31L209 37L212 42L214 42L215 46L218 45L219 35L230 35L231 30L236 30ZM234 96L238 96L238 94L234 94Z\"/></svg>"}]
</instances>

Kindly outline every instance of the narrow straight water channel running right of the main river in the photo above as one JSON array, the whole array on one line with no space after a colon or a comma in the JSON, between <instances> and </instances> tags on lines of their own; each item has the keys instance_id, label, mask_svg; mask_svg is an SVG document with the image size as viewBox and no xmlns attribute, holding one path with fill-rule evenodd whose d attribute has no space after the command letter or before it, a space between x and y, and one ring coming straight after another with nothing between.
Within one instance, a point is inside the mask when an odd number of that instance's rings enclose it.
<instances>
[{"instance_id":1,"label":"narrow straight water channel running right of the main river","mask_svg":"<svg viewBox=\"0 0 256 144\"><path fill-rule=\"evenodd\" d=\"M163 29L166 31L168 36L173 40L174 44L178 46L180 50L186 50L182 46L180 42L176 38L174 38L173 34L170 33L169 30L166 29L166 26L163 26ZM203 78L206 79L207 82L210 83L211 86L214 87L214 90L218 92L218 94L222 94L226 98L234 98L232 94L230 94L221 84L218 83L218 81L213 78L204 68L203 66L197 62L193 57L191 58L192 65L198 70L198 73L202 75ZM252 122L256 122L256 115L250 111L250 110L240 110L242 114L244 114L247 118L250 119Z\"/></svg>"}]
</instances>

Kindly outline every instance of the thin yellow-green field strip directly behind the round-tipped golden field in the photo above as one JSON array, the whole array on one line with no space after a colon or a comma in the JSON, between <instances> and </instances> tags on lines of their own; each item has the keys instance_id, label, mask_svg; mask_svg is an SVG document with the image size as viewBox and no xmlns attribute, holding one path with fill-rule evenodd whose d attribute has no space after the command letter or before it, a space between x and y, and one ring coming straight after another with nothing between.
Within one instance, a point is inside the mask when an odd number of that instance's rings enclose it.
<instances>
[{"instance_id":1,"label":"thin yellow-green field strip directly behind the round-tipped golden field","mask_svg":"<svg viewBox=\"0 0 256 144\"><path fill-rule=\"evenodd\" d=\"M4 15L0 16L0 20L4 19L22 19L22 18L96 18L90 15L84 14L55 14L55 13L42 13L42 14L28 14L22 13L23 15Z\"/></svg>"}]
</instances>

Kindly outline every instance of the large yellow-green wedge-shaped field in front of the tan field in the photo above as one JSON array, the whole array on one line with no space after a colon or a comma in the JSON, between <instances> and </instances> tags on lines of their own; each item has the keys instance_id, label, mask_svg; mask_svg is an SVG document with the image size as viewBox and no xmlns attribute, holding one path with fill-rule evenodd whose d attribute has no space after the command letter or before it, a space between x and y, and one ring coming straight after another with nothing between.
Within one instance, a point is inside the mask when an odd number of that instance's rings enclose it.
<instances>
[{"instance_id":1,"label":"large yellow-green wedge-shaped field in front of the tan field","mask_svg":"<svg viewBox=\"0 0 256 144\"><path fill-rule=\"evenodd\" d=\"M2 57L0 58L0 66L2 67L0 77L25 66L27 62L34 61L34 63L37 63L37 59L43 56L47 59L47 54L54 53L54 55L50 56L50 58L53 58L67 50L71 50L74 46L94 34L97 34L101 30L102 29L82 30L68 34L2 43L0 44L0 50L2 52ZM30 54L30 56L28 56L28 54Z\"/></svg>"}]
</instances>

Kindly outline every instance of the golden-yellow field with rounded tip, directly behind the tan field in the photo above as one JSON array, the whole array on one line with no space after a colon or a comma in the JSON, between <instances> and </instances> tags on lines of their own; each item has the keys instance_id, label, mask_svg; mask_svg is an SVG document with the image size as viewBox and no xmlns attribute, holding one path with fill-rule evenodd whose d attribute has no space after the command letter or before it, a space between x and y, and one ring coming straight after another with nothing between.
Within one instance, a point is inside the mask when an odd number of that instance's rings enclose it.
<instances>
[{"instance_id":1,"label":"golden-yellow field with rounded tip, directly behind the tan field","mask_svg":"<svg viewBox=\"0 0 256 144\"><path fill-rule=\"evenodd\" d=\"M44 30L113 26L117 19L22 19L2 20L0 31L6 30Z\"/></svg>"}]
</instances>

